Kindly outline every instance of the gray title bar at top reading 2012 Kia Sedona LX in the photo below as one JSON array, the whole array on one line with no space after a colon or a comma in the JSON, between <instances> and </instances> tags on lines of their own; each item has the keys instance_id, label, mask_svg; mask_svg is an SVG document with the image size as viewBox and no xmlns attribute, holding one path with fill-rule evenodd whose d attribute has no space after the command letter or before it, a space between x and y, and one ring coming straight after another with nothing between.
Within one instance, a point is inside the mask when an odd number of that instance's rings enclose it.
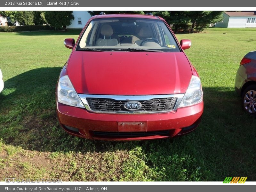
<instances>
[{"instance_id":1,"label":"gray title bar at top reading 2012 Kia Sedona LX","mask_svg":"<svg viewBox=\"0 0 256 192\"><path fill-rule=\"evenodd\" d=\"M0 7L256 7L255 0L10 0L1 1Z\"/></svg>"}]
</instances>

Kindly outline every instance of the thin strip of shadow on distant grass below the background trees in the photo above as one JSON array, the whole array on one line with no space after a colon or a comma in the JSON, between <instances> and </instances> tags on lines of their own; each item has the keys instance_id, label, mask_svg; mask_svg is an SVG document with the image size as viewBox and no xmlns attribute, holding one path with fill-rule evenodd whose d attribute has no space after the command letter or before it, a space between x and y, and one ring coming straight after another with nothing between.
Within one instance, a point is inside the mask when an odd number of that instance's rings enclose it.
<instances>
[{"instance_id":1,"label":"thin strip of shadow on distant grass below the background trees","mask_svg":"<svg viewBox=\"0 0 256 192\"><path fill-rule=\"evenodd\" d=\"M42 30L42 31L24 31L24 32L15 32L17 35L23 36L48 36L48 35L79 35L82 29L69 29L67 31L60 30Z\"/></svg>"}]
</instances>

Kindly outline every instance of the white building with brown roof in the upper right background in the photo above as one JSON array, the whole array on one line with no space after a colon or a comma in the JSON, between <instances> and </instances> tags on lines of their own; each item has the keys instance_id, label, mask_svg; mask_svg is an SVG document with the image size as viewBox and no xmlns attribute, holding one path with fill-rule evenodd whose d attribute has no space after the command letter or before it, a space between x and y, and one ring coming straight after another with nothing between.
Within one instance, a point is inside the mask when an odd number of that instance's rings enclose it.
<instances>
[{"instance_id":1,"label":"white building with brown roof in the upper right background","mask_svg":"<svg viewBox=\"0 0 256 192\"><path fill-rule=\"evenodd\" d=\"M246 28L256 27L256 11L224 12L224 19L215 23L215 27Z\"/></svg>"}]
</instances>

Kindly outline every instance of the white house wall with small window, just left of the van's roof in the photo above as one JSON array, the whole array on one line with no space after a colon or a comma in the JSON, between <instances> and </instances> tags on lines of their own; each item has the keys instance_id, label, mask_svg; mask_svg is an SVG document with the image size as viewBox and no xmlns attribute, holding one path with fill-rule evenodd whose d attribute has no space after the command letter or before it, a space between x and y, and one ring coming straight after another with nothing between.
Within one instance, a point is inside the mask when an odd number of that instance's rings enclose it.
<instances>
[{"instance_id":1,"label":"white house wall with small window, just left of the van's roof","mask_svg":"<svg viewBox=\"0 0 256 192\"><path fill-rule=\"evenodd\" d=\"M73 11L75 17L71 25L67 26L68 29L81 29L84 28L87 21L92 17L87 11Z\"/></svg>"}]
</instances>

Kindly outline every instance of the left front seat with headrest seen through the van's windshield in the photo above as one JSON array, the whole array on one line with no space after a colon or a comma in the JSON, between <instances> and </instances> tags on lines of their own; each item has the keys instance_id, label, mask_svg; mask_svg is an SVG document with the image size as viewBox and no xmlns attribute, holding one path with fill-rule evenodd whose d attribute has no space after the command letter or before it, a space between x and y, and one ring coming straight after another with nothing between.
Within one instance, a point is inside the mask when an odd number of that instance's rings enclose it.
<instances>
[{"instance_id":1,"label":"left front seat with headrest seen through the van's windshield","mask_svg":"<svg viewBox=\"0 0 256 192\"><path fill-rule=\"evenodd\" d=\"M110 25L108 24L103 25L100 30L100 34L104 36L104 39L102 38L97 39L96 46L101 46L101 47L115 46L118 44L117 39L114 39L114 38L111 39L111 36L113 35L113 28Z\"/></svg>"}]
</instances>

